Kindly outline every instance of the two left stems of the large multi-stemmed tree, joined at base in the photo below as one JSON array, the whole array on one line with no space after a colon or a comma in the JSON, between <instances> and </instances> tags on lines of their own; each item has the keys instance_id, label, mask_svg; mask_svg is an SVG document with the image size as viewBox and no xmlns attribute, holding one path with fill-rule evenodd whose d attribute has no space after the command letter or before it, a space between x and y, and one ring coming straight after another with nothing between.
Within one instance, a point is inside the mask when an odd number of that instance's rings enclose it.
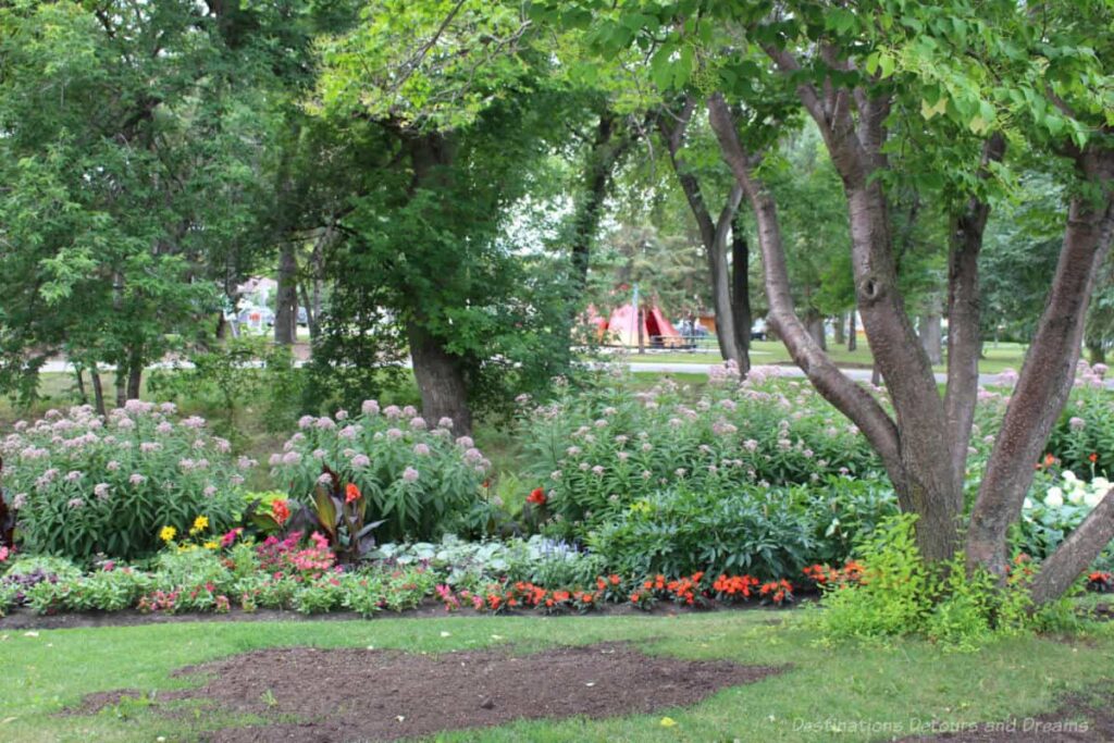
<instances>
[{"instance_id":1,"label":"two left stems of the large multi-stemmed tree, joined at base","mask_svg":"<svg viewBox=\"0 0 1114 743\"><path fill-rule=\"evenodd\" d=\"M779 63L785 67L782 60ZM795 69L795 61L790 69ZM874 363L893 401L897 420L890 420L872 398L870 404L846 389L848 385L857 390L860 388L836 369L800 324L792 309L792 300L788 296L788 274L784 277L785 296L781 297L779 292L771 291L770 253L781 254L781 261L784 262L780 232L775 248L768 251L765 245L762 246L768 271L766 294L771 304L771 319L778 325L793 360L809 375L818 391L850 417L879 451L901 509L918 515L917 544L921 555L930 561L950 559L959 546L962 481L956 478L948 458L950 449L945 431L944 404L936 388L931 364L917 340L898 289L888 206L882 186L871 177L885 165L880 153L885 141L883 123L889 114L889 101L870 99L866 95L858 97L856 107L860 111L861 121L857 127L851 119L848 91L828 87L824 89L825 99L821 100L820 92L807 84L798 90L817 121L832 163L843 182L850 213L851 262L859 313ZM725 111L726 105L722 99L716 102L713 97L711 106L713 128L716 129L721 148L736 179L747 190L755 217L769 219L774 214L772 198L763 193L764 188L754 178L750 167L752 164L747 162L749 157L739 143L734 126L723 114L717 113L720 108ZM720 120L719 125L716 119ZM759 236L761 242L761 224ZM770 235L765 238L769 241ZM868 430L861 420L869 420L874 431Z\"/></svg>"}]
</instances>

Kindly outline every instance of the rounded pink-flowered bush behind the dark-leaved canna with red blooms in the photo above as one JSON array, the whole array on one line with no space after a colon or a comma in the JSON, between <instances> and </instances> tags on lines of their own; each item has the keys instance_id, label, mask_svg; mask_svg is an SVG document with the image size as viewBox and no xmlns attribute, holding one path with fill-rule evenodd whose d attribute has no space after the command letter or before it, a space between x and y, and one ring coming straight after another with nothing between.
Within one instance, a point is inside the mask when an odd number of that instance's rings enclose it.
<instances>
[{"instance_id":1,"label":"rounded pink-flowered bush behind the dark-leaved canna with red blooms","mask_svg":"<svg viewBox=\"0 0 1114 743\"><path fill-rule=\"evenodd\" d=\"M363 495L365 520L387 519L380 540L429 539L453 529L479 499L490 462L452 422L432 430L418 411L374 400L359 416L303 417L300 431L271 457L275 480L291 498L310 504L324 467Z\"/></svg>"}]
</instances>

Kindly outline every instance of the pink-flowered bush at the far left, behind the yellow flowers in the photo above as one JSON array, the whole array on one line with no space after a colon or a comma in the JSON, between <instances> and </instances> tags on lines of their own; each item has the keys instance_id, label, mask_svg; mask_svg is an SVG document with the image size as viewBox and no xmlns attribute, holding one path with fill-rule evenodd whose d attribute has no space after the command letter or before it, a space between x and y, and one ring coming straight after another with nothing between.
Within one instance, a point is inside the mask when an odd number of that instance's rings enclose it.
<instances>
[{"instance_id":1,"label":"pink-flowered bush at the far left, behind the yellow flowers","mask_svg":"<svg viewBox=\"0 0 1114 743\"><path fill-rule=\"evenodd\" d=\"M229 449L204 420L138 400L107 420L87 405L49 411L0 441L22 547L85 563L152 555L164 526L186 532L199 515L214 528L234 525L254 462Z\"/></svg>"}]
</instances>

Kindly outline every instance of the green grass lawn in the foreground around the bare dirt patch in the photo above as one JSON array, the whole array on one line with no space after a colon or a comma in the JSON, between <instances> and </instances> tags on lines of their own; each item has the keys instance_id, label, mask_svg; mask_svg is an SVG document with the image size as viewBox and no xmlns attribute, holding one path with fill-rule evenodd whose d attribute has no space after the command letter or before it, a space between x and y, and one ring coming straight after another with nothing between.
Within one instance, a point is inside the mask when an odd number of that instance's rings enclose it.
<instances>
[{"instance_id":1,"label":"green grass lawn in the foreground around the bare dirt patch","mask_svg":"<svg viewBox=\"0 0 1114 743\"><path fill-rule=\"evenodd\" d=\"M781 624L773 624L776 620ZM443 636L449 633L449 636ZM889 734L848 732L912 721L973 723L1055 708L1057 697L1114 678L1114 632L1075 641L1019 637L975 654L944 653L922 642L890 647L815 644L801 613L720 612L682 617L384 619L371 622L197 623L0 632L0 740L188 741L229 724L203 708L175 720L141 703L91 716L56 716L82 695L114 688L144 693L180 687L173 669L252 649L373 645L447 653L509 644L529 653L554 645L629 641L649 653L744 664L789 665L755 684L731 687L685 708L607 720L518 722L439 736L446 741L866 741ZM196 683L196 682L195 682ZM538 684L545 684L544 677ZM353 694L370 694L367 690ZM661 724L663 715L675 726ZM831 722L827 722L831 721ZM241 722L244 722L243 720ZM805 724L811 724L810 730ZM824 725L842 732L824 732ZM162 736L162 737L159 737Z\"/></svg>"}]
</instances>

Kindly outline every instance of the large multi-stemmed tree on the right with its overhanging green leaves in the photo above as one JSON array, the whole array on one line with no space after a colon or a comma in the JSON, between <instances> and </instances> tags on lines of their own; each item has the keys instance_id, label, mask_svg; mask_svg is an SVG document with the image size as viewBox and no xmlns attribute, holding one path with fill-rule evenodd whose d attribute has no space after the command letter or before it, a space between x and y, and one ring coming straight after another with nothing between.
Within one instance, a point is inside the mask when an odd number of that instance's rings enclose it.
<instances>
[{"instance_id":1,"label":"large multi-stemmed tree on the right with its overhanging green leaves","mask_svg":"<svg viewBox=\"0 0 1114 743\"><path fill-rule=\"evenodd\" d=\"M713 128L755 213L771 321L818 390L879 452L902 509L919 517L918 544L930 560L950 558L960 545L978 384L978 255L990 196L1010 177L1003 164L1006 141L1055 164L1067 187L1063 247L967 527L969 566L1003 575L1006 531L1071 390L1086 300L1114 232L1114 41L1094 32L1110 26L1114 10L1104 2L991 2L976 10L965 2L910 7L890 0L853 8L811 0L566 6L547 6L538 17L594 12L600 50L636 46L673 86L713 91ZM716 42L724 27L737 33L733 48ZM761 50L765 63L736 53L744 43ZM760 172L768 144L740 136L723 95L745 95L770 75L792 86L840 175L858 307L892 417L836 369L794 311L776 204ZM898 123L912 151L895 158ZM899 282L891 203L909 183L939 194L952 215L942 399ZM1044 563L1034 598L1063 593L1112 537L1114 493Z\"/></svg>"}]
</instances>

